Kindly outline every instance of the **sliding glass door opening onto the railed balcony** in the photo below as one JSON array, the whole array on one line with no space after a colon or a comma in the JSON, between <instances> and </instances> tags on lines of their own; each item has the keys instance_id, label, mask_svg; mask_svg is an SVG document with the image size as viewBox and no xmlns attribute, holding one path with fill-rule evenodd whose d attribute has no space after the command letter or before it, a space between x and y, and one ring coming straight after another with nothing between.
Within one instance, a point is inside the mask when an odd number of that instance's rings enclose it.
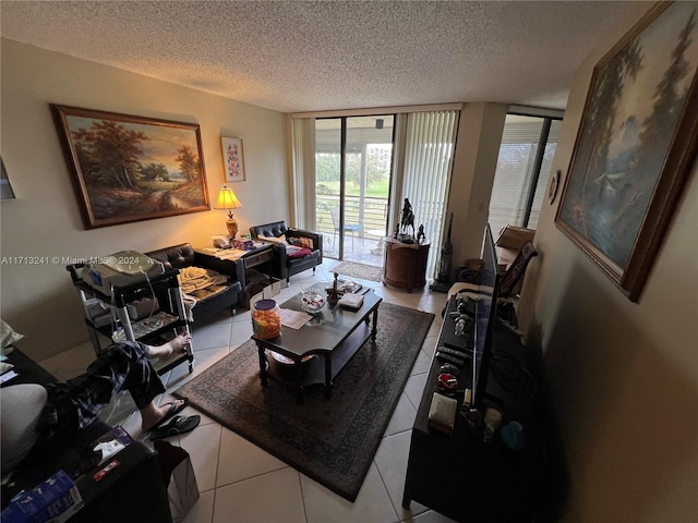
<instances>
[{"instance_id":1,"label":"sliding glass door opening onto the railed balcony","mask_svg":"<svg viewBox=\"0 0 698 523\"><path fill-rule=\"evenodd\" d=\"M392 114L315 120L315 230L328 257L383 263L394 122Z\"/></svg>"}]
</instances>

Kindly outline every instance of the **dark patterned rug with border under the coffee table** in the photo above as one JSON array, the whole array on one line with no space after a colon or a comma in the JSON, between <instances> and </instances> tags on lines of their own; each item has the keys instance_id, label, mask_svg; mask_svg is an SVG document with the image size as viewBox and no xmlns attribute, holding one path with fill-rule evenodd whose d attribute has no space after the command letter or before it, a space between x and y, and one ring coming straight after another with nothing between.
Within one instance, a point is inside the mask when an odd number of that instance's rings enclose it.
<instances>
[{"instance_id":1,"label":"dark patterned rug with border under the coffee table","mask_svg":"<svg viewBox=\"0 0 698 523\"><path fill-rule=\"evenodd\" d=\"M335 378L329 400L323 387L308 388L303 404L274 380L263 388L252 340L174 394L354 501L433 318L382 303L375 342L366 341Z\"/></svg>"}]
</instances>

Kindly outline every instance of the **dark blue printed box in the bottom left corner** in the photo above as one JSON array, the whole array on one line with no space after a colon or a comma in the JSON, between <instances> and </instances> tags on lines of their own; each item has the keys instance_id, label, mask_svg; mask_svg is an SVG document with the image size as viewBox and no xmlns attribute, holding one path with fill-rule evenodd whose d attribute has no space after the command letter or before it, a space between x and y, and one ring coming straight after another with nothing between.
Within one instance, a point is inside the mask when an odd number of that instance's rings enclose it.
<instances>
[{"instance_id":1,"label":"dark blue printed box in the bottom left corner","mask_svg":"<svg viewBox=\"0 0 698 523\"><path fill-rule=\"evenodd\" d=\"M75 483L58 471L32 491L24 492L2 511L3 523L62 523L83 508Z\"/></svg>"}]
</instances>

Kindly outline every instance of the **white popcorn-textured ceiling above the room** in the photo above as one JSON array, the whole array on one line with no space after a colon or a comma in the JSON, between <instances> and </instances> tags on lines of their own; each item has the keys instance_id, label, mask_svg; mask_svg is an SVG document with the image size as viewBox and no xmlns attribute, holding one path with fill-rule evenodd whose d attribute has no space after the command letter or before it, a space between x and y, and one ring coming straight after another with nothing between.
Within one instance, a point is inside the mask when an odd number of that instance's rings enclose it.
<instances>
[{"instance_id":1,"label":"white popcorn-textured ceiling above the room","mask_svg":"<svg viewBox=\"0 0 698 523\"><path fill-rule=\"evenodd\" d=\"M5 38L284 112L562 109L630 3L1 0L0 14Z\"/></svg>"}]
</instances>

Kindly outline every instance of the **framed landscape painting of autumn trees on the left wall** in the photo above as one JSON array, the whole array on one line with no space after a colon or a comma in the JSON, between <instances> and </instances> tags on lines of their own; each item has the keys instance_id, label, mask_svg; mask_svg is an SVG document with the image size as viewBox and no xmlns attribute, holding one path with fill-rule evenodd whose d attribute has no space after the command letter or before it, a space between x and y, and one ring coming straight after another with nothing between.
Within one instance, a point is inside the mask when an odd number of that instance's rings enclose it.
<instances>
[{"instance_id":1,"label":"framed landscape painting of autumn trees on the left wall","mask_svg":"<svg viewBox=\"0 0 698 523\"><path fill-rule=\"evenodd\" d=\"M51 110L86 229L209 210L197 124Z\"/></svg>"}]
</instances>

